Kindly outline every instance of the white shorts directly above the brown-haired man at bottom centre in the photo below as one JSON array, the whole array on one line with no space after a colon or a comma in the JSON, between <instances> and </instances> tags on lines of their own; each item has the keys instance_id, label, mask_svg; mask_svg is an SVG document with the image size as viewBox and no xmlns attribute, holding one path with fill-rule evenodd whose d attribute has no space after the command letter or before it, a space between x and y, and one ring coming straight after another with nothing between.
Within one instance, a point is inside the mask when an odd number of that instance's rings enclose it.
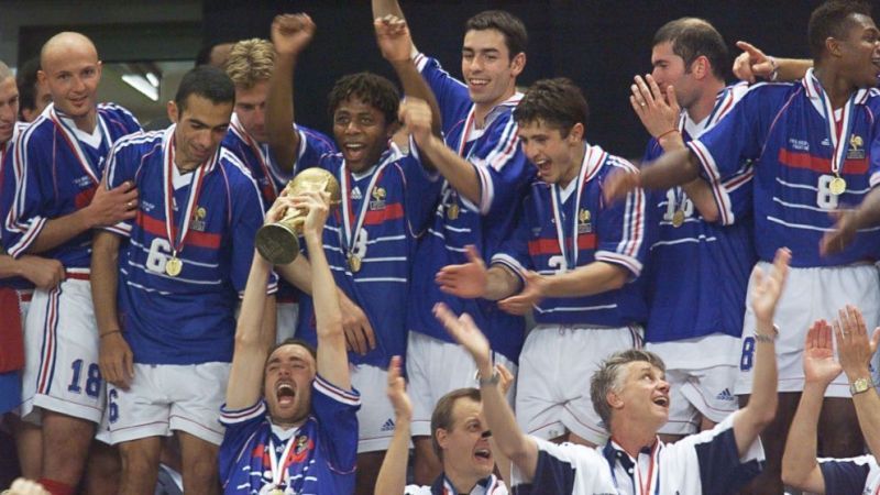
<instances>
[{"instance_id":1,"label":"white shorts directly above the brown-haired man at bottom centre","mask_svg":"<svg viewBox=\"0 0 880 495\"><path fill-rule=\"evenodd\" d=\"M493 352L493 363L504 364L516 376L517 365L504 355ZM464 387L480 388L476 364L462 346L409 332L406 349L407 392L413 400L413 437L431 436L431 415L440 397ZM516 385L507 392L513 404Z\"/></svg>"}]
</instances>

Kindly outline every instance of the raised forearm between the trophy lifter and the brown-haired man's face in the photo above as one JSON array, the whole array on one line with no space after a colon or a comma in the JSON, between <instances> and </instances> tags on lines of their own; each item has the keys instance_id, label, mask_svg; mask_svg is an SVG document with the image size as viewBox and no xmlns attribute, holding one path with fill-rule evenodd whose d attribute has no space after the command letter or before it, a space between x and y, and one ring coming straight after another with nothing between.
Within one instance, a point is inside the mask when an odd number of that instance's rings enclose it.
<instances>
[{"instance_id":1,"label":"raised forearm between the trophy lifter and the brown-haired man's face","mask_svg":"<svg viewBox=\"0 0 880 495\"><path fill-rule=\"evenodd\" d=\"M394 436L376 477L375 495L397 495L406 490L413 404L406 394L406 381L400 376L400 356L397 355L392 358L388 365L387 395L394 407Z\"/></svg>"}]
</instances>

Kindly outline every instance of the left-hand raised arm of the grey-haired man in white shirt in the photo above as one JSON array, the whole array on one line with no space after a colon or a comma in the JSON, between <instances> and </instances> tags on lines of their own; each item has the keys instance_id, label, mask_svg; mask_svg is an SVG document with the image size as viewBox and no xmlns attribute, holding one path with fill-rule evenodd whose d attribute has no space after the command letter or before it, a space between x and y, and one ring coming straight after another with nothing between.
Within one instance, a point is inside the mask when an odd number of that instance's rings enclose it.
<instances>
[{"instance_id":1,"label":"left-hand raised arm of the grey-haired man in white shirt","mask_svg":"<svg viewBox=\"0 0 880 495\"><path fill-rule=\"evenodd\" d=\"M531 482L538 468L538 444L519 429L514 411L502 393L499 381L494 375L488 341L468 315L455 317L446 305L438 304L435 306L435 316L476 362L482 377L480 392L483 396L483 414L495 444L517 466L522 481Z\"/></svg>"}]
</instances>

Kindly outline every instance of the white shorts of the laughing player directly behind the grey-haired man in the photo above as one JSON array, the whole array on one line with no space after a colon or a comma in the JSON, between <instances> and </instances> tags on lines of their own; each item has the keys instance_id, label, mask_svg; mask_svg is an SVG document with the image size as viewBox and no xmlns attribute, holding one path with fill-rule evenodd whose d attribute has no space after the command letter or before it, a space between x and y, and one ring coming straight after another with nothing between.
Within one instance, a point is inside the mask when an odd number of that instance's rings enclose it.
<instances>
[{"instance_id":1,"label":"white shorts of the laughing player directly behind the grey-haired man","mask_svg":"<svg viewBox=\"0 0 880 495\"><path fill-rule=\"evenodd\" d=\"M608 432L593 409L590 380L614 352L641 348L639 327L539 324L519 354L516 417L520 428L550 440L571 431L596 444Z\"/></svg>"}]
</instances>

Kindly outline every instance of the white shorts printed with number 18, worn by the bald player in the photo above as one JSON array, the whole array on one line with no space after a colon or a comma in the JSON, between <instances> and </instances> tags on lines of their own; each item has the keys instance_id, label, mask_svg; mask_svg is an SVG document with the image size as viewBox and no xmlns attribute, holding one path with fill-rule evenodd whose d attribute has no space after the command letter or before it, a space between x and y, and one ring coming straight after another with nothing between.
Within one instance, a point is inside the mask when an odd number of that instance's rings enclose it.
<instances>
[{"instance_id":1,"label":"white shorts printed with number 18, worn by the bald player","mask_svg":"<svg viewBox=\"0 0 880 495\"><path fill-rule=\"evenodd\" d=\"M22 417L40 422L38 407L100 422L105 384L98 345L86 274L68 272L58 287L35 290L24 331Z\"/></svg>"}]
</instances>

